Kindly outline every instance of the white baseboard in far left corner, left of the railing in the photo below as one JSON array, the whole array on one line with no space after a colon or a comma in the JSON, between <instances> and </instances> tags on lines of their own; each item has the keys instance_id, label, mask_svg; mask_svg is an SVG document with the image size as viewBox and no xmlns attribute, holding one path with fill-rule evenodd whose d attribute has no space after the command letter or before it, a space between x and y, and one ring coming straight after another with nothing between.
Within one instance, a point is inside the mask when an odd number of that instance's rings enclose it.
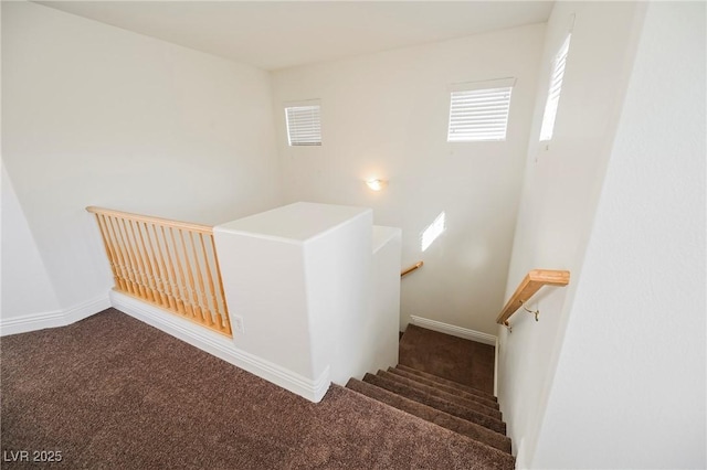
<instances>
[{"instance_id":1,"label":"white baseboard in far left corner, left of the railing","mask_svg":"<svg viewBox=\"0 0 707 470\"><path fill-rule=\"evenodd\" d=\"M108 308L110 308L108 296L101 296L68 309L0 319L0 337L27 333L45 328L66 327Z\"/></svg>"}]
</instances>

